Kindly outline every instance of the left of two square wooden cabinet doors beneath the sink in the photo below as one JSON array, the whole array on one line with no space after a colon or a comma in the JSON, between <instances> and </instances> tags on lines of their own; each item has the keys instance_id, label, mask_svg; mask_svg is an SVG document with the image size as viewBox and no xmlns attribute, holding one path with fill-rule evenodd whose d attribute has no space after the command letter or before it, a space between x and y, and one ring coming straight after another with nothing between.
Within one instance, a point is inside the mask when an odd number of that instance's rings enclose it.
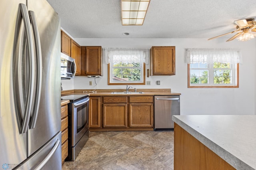
<instances>
[{"instance_id":1,"label":"left of two square wooden cabinet doors beneath the sink","mask_svg":"<svg viewBox=\"0 0 256 170\"><path fill-rule=\"evenodd\" d=\"M103 105L104 127L127 127L127 104L104 104Z\"/></svg>"}]
</instances>

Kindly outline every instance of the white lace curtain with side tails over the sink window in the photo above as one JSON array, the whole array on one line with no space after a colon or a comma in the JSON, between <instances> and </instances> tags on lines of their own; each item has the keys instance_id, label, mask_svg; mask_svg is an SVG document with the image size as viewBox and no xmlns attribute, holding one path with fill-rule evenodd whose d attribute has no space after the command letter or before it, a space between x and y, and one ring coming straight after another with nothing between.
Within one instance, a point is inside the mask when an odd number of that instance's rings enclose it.
<instances>
[{"instance_id":1,"label":"white lace curtain with side tails over the sink window","mask_svg":"<svg viewBox=\"0 0 256 170\"><path fill-rule=\"evenodd\" d=\"M108 64L110 62L110 58L113 55L124 54L124 55L140 55L145 64L149 62L149 49L137 49L137 48L104 48L104 62Z\"/></svg>"}]
</instances>

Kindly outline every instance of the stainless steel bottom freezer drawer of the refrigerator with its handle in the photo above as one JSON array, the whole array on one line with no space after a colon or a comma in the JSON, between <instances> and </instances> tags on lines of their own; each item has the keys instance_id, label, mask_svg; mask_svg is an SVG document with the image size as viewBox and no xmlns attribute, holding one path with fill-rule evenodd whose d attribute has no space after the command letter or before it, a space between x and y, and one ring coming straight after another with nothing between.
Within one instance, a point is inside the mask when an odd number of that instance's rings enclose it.
<instances>
[{"instance_id":1,"label":"stainless steel bottom freezer drawer of the refrigerator with its handle","mask_svg":"<svg viewBox=\"0 0 256 170\"><path fill-rule=\"evenodd\" d=\"M14 170L61 170L61 132Z\"/></svg>"}]
</instances>

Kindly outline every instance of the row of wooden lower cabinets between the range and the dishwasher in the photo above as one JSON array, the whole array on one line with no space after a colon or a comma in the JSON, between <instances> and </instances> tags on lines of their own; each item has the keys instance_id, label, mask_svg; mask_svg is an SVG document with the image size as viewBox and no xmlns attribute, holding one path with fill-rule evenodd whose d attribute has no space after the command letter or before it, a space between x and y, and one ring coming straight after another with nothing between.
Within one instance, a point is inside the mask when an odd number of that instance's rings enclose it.
<instances>
[{"instance_id":1,"label":"row of wooden lower cabinets between the range and the dishwasher","mask_svg":"<svg viewBox=\"0 0 256 170\"><path fill-rule=\"evenodd\" d=\"M90 97L89 130L154 130L153 99L154 96Z\"/></svg>"}]
</instances>

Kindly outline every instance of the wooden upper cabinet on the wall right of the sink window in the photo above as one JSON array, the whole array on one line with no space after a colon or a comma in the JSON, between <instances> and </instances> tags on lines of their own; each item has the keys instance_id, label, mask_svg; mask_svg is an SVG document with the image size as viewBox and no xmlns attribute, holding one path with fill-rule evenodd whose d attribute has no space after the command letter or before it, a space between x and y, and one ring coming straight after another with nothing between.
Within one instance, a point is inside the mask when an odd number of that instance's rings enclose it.
<instances>
[{"instance_id":1,"label":"wooden upper cabinet on the wall right of the sink window","mask_svg":"<svg viewBox=\"0 0 256 170\"><path fill-rule=\"evenodd\" d=\"M150 75L175 75L175 46L150 49Z\"/></svg>"}]
</instances>

